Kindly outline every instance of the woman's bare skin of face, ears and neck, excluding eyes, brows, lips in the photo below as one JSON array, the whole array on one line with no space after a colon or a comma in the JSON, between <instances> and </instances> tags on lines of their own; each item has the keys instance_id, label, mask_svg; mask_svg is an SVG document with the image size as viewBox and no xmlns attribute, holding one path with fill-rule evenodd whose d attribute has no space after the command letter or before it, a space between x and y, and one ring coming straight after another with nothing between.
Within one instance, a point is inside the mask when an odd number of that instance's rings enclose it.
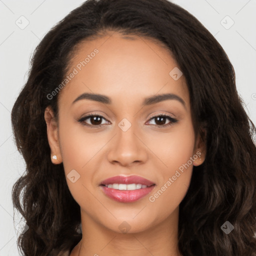
<instances>
[{"instance_id":1,"label":"woman's bare skin of face, ears and neck, excluding eyes, brows, lips","mask_svg":"<svg viewBox=\"0 0 256 256\"><path fill-rule=\"evenodd\" d=\"M71 256L113 256L120 255L120 251L125 256L180 256L179 203L187 192L193 165L204 161L204 143L199 136L195 138L184 76L174 80L169 75L178 66L176 61L154 41L134 38L113 33L83 41L71 60L70 72L95 48L99 52L62 88L58 123L51 108L45 109L52 163L63 162L65 175L72 169L80 175L74 183L66 176L68 188L80 205L82 224L82 239ZM84 92L107 95L112 103L82 99L72 104ZM161 93L178 95L185 106L175 99L141 106L144 97ZM103 116L98 121L101 127L76 121L89 113ZM159 124L151 118L154 114L167 114L178 121L163 127L170 120L166 118ZM123 118L131 124L127 131L118 126ZM93 120L84 122L92 125ZM201 152L201 160L194 159L158 198L149 201L149 196L197 151ZM135 202L117 202L102 192L99 183L119 174L136 174L156 186ZM130 228L126 233L118 228L123 221Z\"/></svg>"}]
</instances>

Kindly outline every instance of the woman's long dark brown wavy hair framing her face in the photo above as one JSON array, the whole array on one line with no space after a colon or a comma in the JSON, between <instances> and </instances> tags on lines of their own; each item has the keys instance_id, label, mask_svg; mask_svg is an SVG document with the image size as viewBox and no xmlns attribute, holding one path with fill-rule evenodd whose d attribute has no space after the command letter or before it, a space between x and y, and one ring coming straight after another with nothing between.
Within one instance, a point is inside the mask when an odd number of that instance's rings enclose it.
<instances>
[{"instance_id":1,"label":"woman's long dark brown wavy hair framing her face","mask_svg":"<svg viewBox=\"0 0 256 256\"><path fill-rule=\"evenodd\" d=\"M14 207L28 230L18 236L25 256L55 256L79 242L80 207L63 164L52 164L44 110L58 116L58 94L83 40L111 31L152 38L170 50L190 95L195 134L206 130L206 157L193 167L179 205L183 256L255 256L255 126L237 93L235 73L214 36L189 12L167 0L87 0L54 25L35 48L28 78L11 111L12 130L26 168L12 187ZM221 229L229 221L234 229Z\"/></svg>"}]
</instances>

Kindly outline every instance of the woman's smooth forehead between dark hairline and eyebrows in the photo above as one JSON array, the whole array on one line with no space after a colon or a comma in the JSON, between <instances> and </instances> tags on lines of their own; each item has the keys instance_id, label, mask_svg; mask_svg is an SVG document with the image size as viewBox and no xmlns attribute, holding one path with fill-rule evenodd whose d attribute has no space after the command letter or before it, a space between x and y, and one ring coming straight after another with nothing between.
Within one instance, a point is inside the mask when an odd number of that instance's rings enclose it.
<instances>
[{"instance_id":1,"label":"woman's smooth forehead between dark hairline and eyebrows","mask_svg":"<svg viewBox=\"0 0 256 256\"><path fill-rule=\"evenodd\" d=\"M175 92L189 101L183 75L178 80L171 76L175 68L171 52L150 38L115 33L84 40L72 55L67 75L75 75L62 88L60 100L70 103L93 92L141 101L141 96Z\"/></svg>"}]
</instances>

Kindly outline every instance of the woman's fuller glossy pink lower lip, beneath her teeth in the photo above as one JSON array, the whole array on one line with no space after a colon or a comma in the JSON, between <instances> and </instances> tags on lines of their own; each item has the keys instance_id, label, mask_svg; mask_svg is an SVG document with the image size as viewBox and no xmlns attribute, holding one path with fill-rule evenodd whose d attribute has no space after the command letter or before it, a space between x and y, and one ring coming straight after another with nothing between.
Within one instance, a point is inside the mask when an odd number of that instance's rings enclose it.
<instances>
[{"instance_id":1,"label":"woman's fuller glossy pink lower lip, beneath her teeth","mask_svg":"<svg viewBox=\"0 0 256 256\"><path fill-rule=\"evenodd\" d=\"M134 190L119 190L101 185L105 195L118 202L134 202L144 197L154 188L155 185Z\"/></svg>"}]
</instances>

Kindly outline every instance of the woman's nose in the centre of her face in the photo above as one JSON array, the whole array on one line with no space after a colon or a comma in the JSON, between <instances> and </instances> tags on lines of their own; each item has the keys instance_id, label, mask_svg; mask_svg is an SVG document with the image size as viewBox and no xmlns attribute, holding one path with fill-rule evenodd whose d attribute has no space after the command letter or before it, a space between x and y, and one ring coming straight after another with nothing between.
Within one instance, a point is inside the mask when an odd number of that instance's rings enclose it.
<instances>
[{"instance_id":1,"label":"woman's nose in the centre of her face","mask_svg":"<svg viewBox=\"0 0 256 256\"><path fill-rule=\"evenodd\" d=\"M136 125L131 123L127 130L123 126L120 127L116 127L116 134L109 141L108 161L122 166L145 162L147 159L147 146L143 138L140 138L139 134L141 133L136 129Z\"/></svg>"}]
</instances>

